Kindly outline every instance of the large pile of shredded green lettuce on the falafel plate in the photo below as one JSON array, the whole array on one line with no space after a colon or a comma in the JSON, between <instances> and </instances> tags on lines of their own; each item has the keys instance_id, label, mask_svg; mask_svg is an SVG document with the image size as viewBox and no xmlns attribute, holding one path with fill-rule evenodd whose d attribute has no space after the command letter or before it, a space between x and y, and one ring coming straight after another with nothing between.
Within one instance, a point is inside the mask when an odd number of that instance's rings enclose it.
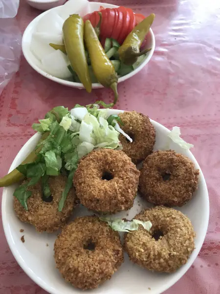
<instances>
[{"instance_id":1,"label":"large pile of shredded green lettuce on the falafel plate","mask_svg":"<svg viewBox=\"0 0 220 294\"><path fill-rule=\"evenodd\" d=\"M34 130L42 134L48 132L48 136L36 147L41 148L36 161L17 168L28 180L15 190L14 196L26 210L27 199L31 196L29 186L41 180L43 196L49 197L49 176L64 174L66 187L58 207L62 211L79 159L93 149L122 149L120 133L130 138L120 128L118 122L122 122L117 115L110 115L108 109L98 110L98 107L97 104L87 107L76 104L70 111L63 106L54 107L43 120L33 124Z\"/></svg>"}]
</instances>

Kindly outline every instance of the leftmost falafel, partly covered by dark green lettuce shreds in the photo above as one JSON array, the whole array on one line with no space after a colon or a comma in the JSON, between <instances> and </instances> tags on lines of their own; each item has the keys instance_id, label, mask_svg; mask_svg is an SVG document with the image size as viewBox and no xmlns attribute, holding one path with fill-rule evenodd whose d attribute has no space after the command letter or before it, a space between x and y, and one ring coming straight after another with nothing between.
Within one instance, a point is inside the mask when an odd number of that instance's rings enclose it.
<instances>
[{"instance_id":1,"label":"leftmost falafel, partly covered by dark green lettuce shreds","mask_svg":"<svg viewBox=\"0 0 220 294\"><path fill-rule=\"evenodd\" d=\"M25 182L25 181L24 181ZM17 217L35 226L39 232L54 232L66 224L75 206L76 196L74 189L70 189L62 212L58 211L58 204L66 186L66 176L58 175L49 178L49 187L52 201L42 199L41 183L28 188L32 195L27 200L28 210L25 210L19 200L14 197L14 210Z\"/></svg>"}]
</instances>

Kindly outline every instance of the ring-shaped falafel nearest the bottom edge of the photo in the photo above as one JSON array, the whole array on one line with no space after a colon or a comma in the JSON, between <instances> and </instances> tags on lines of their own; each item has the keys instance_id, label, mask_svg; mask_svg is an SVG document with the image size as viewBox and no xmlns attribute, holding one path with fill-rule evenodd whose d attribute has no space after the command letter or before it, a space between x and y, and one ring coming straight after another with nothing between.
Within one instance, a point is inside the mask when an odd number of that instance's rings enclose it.
<instances>
[{"instance_id":1,"label":"ring-shaped falafel nearest the bottom edge of the photo","mask_svg":"<svg viewBox=\"0 0 220 294\"><path fill-rule=\"evenodd\" d=\"M118 232L97 217L76 218L54 244L58 270L73 286L97 288L110 279L124 261Z\"/></svg>"}]
</instances>

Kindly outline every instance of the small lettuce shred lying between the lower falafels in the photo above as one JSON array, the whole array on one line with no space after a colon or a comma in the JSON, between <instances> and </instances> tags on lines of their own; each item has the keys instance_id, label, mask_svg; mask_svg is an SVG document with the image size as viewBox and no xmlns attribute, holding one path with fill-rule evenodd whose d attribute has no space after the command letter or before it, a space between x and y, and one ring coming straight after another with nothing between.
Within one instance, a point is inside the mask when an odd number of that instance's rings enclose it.
<instances>
[{"instance_id":1,"label":"small lettuce shred lying between the lower falafels","mask_svg":"<svg viewBox=\"0 0 220 294\"><path fill-rule=\"evenodd\" d=\"M139 220L132 220L132 221L124 221L120 219L112 220L109 217L100 217L101 221L106 221L114 231L118 232L131 232L138 230L138 225L141 224L145 230L150 231L152 227L151 221L139 221Z\"/></svg>"}]
</instances>

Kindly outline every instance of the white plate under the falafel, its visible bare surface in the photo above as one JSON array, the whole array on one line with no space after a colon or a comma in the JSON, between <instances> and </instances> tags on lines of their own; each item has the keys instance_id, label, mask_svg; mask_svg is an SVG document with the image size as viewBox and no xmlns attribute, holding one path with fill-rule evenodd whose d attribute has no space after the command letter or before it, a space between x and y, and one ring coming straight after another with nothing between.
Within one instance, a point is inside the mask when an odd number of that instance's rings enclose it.
<instances>
[{"instance_id":1,"label":"white plate under the falafel, its visible bare surface","mask_svg":"<svg viewBox=\"0 0 220 294\"><path fill-rule=\"evenodd\" d=\"M111 110L113 114L121 111ZM170 132L163 125L152 121L156 129L156 143L154 149L160 149L166 146L167 134ZM39 134L35 134L22 147L16 158L14 159L9 172L15 169L24 158L36 146L40 138ZM183 150L181 147L172 143L171 148L176 152L188 156L196 168L199 169L198 163L189 150ZM4 233L12 253L22 269L35 281L39 286L44 288L51 294L76 294L82 291L73 288L67 284L55 269L53 258L53 244L56 239L56 234L40 234L37 233L33 226L24 224L16 217L13 209L13 193L16 185L4 188L2 195L2 221ZM140 206L138 205L140 201ZM132 219L137 212L144 207L150 206L146 201L137 196L135 203L129 212L128 219ZM171 287L176 281L189 269L193 261L196 259L198 252L203 244L209 219L209 198L204 176L200 170L199 185L193 199L186 205L178 208L186 214L194 226L196 232L195 244L196 248L191 254L187 264L182 266L175 273L163 274L152 273L144 270L129 261L125 254L125 262L121 268L113 274L112 278L100 286L98 289L89 291L93 294L159 294ZM127 212L122 212L115 217L126 217ZM75 209L74 217L88 215L87 209L78 207ZM24 229L20 233L20 229ZM24 235L25 243L21 242L21 236ZM49 246L46 246L48 244ZM151 288L151 291L148 290Z\"/></svg>"}]
</instances>

